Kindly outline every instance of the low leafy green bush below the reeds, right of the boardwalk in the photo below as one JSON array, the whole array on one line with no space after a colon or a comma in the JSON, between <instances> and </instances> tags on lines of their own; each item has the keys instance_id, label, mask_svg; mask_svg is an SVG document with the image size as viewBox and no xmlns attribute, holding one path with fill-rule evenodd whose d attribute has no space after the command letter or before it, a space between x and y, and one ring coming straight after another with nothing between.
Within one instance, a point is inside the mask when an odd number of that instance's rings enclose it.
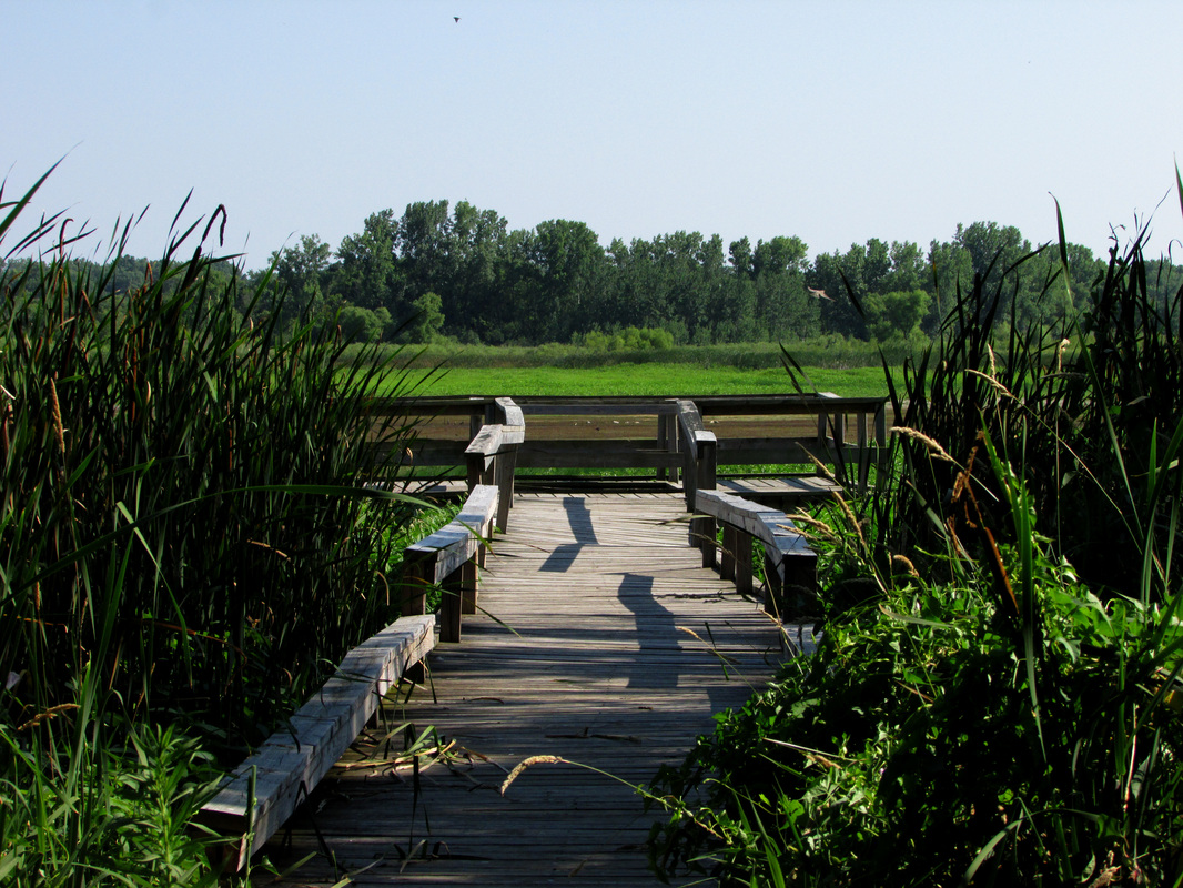
<instances>
[{"instance_id":1,"label":"low leafy green bush below the reeds, right of the boardwalk","mask_svg":"<svg viewBox=\"0 0 1183 888\"><path fill-rule=\"evenodd\" d=\"M654 836L660 870L728 884L1172 883L1177 609L1106 606L1064 565L1034 568L1035 624L988 578L913 581L829 623L813 658L658 780L677 799Z\"/></svg>"}]
</instances>

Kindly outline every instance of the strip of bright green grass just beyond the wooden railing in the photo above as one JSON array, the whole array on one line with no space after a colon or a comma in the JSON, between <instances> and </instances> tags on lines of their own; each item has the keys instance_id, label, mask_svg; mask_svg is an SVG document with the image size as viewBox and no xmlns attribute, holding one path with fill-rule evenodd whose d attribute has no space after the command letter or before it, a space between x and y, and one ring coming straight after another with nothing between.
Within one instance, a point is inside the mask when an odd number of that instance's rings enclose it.
<instances>
[{"instance_id":1,"label":"strip of bright green grass just beyond the wooden railing","mask_svg":"<svg viewBox=\"0 0 1183 888\"><path fill-rule=\"evenodd\" d=\"M843 397L886 395L878 367L806 368L806 391ZM415 390L418 395L696 395L791 393L782 368L739 369L686 363L618 363L607 367L441 367Z\"/></svg>"}]
</instances>

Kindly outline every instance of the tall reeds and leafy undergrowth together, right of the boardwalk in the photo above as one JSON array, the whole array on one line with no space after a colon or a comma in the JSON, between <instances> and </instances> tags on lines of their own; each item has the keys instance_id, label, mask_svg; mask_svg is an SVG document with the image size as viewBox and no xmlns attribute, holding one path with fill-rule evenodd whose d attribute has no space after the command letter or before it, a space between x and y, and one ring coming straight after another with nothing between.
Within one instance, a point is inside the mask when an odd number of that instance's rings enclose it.
<instances>
[{"instance_id":1,"label":"tall reeds and leafy undergrowth together, right of the boardwalk","mask_svg":"<svg viewBox=\"0 0 1183 888\"><path fill-rule=\"evenodd\" d=\"M873 594L659 776L659 874L1183 884L1183 294L1144 240L998 348L1003 294L956 294L892 384L898 474L816 534Z\"/></svg>"}]
</instances>

